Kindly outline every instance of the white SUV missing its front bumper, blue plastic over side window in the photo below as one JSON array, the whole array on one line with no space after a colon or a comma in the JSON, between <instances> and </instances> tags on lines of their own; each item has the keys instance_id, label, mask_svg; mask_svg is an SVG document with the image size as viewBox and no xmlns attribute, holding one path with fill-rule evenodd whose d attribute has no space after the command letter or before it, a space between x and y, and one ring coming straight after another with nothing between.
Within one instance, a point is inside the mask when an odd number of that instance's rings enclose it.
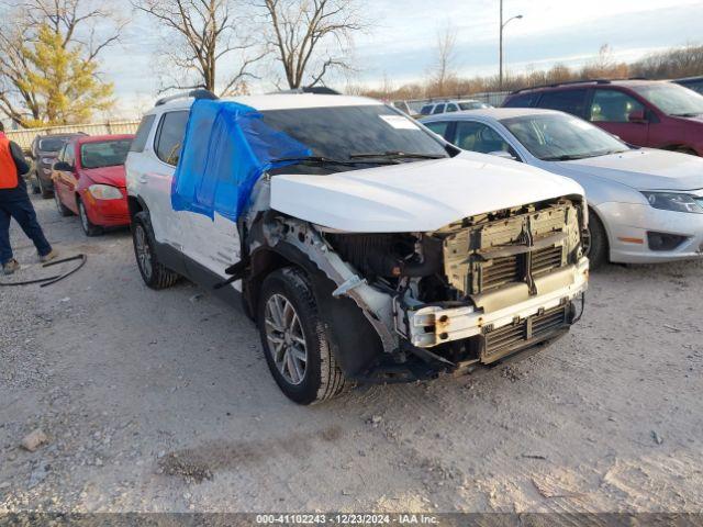
<instances>
[{"instance_id":1,"label":"white SUV missing its front bumper, blue plastic over side window","mask_svg":"<svg viewBox=\"0 0 703 527\"><path fill-rule=\"evenodd\" d=\"M136 262L149 288L185 276L243 300L297 403L349 382L495 365L578 319L589 269L578 183L461 153L370 99L196 94L196 105L157 103L127 157ZM253 154L289 144L306 154ZM238 167L252 159L261 171L245 172L256 175L249 193ZM203 179L181 183L179 162ZM181 184L221 206L230 201L208 189L244 192L244 209L225 217L183 204Z\"/></svg>"}]
</instances>

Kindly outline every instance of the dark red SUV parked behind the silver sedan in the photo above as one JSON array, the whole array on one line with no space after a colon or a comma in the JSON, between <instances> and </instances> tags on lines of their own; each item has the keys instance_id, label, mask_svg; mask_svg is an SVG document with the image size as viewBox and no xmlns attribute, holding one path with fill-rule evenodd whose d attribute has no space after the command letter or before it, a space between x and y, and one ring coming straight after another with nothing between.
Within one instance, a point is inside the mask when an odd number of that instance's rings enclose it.
<instances>
[{"instance_id":1,"label":"dark red SUV parked behind the silver sedan","mask_svg":"<svg viewBox=\"0 0 703 527\"><path fill-rule=\"evenodd\" d=\"M598 80L516 91L503 108L545 108L585 119L626 143L703 156L703 96L650 80Z\"/></svg>"}]
</instances>

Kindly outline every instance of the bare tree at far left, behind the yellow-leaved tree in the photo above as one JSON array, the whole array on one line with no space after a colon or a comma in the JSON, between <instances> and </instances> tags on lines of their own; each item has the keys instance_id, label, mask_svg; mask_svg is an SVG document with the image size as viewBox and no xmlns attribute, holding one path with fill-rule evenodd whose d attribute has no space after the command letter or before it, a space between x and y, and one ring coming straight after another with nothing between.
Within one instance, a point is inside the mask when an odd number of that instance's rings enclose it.
<instances>
[{"instance_id":1,"label":"bare tree at far left, behind the yellow-leaved tree","mask_svg":"<svg viewBox=\"0 0 703 527\"><path fill-rule=\"evenodd\" d=\"M21 125L43 120L40 97L27 80L27 56L41 27L60 38L63 49L93 64L124 27L104 0L10 0L0 12L0 112ZM96 74L97 75L97 74Z\"/></svg>"}]
</instances>

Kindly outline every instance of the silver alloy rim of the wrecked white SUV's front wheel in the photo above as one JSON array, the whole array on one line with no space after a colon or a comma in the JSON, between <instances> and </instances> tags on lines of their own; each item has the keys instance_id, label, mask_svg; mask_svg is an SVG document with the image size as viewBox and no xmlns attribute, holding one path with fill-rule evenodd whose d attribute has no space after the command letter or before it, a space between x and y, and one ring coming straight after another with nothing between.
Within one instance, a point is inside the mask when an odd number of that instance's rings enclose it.
<instances>
[{"instance_id":1,"label":"silver alloy rim of the wrecked white SUV's front wheel","mask_svg":"<svg viewBox=\"0 0 703 527\"><path fill-rule=\"evenodd\" d=\"M266 303L266 338L274 362L286 382L297 386L308 370L308 341L293 304L281 294Z\"/></svg>"}]
</instances>

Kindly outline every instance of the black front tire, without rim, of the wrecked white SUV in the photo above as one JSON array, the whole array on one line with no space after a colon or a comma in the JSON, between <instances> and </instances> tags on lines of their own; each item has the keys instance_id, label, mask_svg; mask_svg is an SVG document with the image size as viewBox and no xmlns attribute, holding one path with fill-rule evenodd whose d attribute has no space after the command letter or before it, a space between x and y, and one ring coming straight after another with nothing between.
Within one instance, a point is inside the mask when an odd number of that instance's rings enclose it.
<instances>
[{"instance_id":1,"label":"black front tire, without rim, of the wrecked white SUV","mask_svg":"<svg viewBox=\"0 0 703 527\"><path fill-rule=\"evenodd\" d=\"M306 360L304 374L299 383L293 383L284 377L284 372L276 363L275 350L271 350L269 343L269 333L267 333L269 324L266 321L267 315L270 316L269 302L275 302L275 298L287 300L294 310L293 314L298 315L300 321L299 326L305 341ZM328 401L344 392L346 379L332 351L325 326L320 319L312 287L308 277L300 269L294 267L279 269L266 278L258 302L258 326L264 354L271 374L281 391L291 401L310 405ZM271 333L275 334L276 329L271 329ZM290 333L292 334L292 329ZM281 338L282 340L283 338ZM286 340L292 345L290 336L287 336ZM286 345L282 344L282 346ZM288 349L290 350L290 347ZM286 360L282 362L284 363Z\"/></svg>"}]
</instances>

